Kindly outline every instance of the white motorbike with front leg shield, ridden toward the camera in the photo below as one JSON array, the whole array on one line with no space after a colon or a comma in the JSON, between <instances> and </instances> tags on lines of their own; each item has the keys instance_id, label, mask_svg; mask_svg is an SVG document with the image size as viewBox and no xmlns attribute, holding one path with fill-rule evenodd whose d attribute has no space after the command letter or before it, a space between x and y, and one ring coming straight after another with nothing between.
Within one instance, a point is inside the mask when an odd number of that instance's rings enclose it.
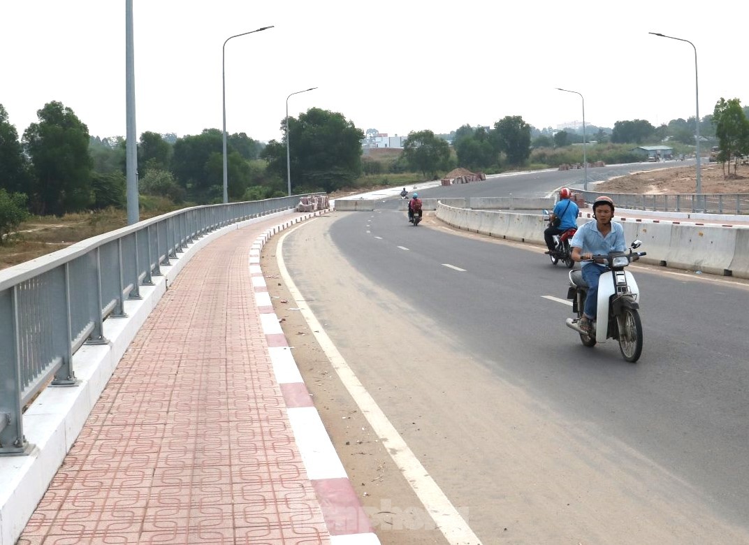
<instances>
[{"instance_id":1,"label":"white motorbike with front leg shield, ridden toward the camera","mask_svg":"<svg viewBox=\"0 0 749 545\"><path fill-rule=\"evenodd\" d=\"M607 338L619 341L619 351L628 362L637 362L643 352L643 325L640 322L640 290L637 281L628 270L632 261L637 261L646 252L634 252L642 245L640 240L631 244L629 252L611 252L594 255L593 261L605 261L607 270L598 281L598 309L595 329L585 332L577 323L583 316L583 306L588 286L579 269L569 272L567 299L572 299L572 311L577 315L567 318L567 326L580 334L586 347L605 342Z\"/></svg>"}]
</instances>

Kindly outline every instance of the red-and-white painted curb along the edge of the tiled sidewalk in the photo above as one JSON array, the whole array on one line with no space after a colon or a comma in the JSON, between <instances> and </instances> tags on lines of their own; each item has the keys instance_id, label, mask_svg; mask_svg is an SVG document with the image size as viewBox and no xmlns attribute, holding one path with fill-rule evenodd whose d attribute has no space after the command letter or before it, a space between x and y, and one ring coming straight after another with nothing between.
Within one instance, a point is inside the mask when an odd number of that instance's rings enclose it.
<instances>
[{"instance_id":1,"label":"red-and-white painted curb along the edge of the tiled sidewalk","mask_svg":"<svg viewBox=\"0 0 749 545\"><path fill-rule=\"evenodd\" d=\"M321 212L294 219L264 232L249 252L249 273L270 361L286 404L302 460L315 489L332 545L380 545L346 470L330 442L318 410L291 354L260 267L260 252L274 234Z\"/></svg>"}]
</instances>

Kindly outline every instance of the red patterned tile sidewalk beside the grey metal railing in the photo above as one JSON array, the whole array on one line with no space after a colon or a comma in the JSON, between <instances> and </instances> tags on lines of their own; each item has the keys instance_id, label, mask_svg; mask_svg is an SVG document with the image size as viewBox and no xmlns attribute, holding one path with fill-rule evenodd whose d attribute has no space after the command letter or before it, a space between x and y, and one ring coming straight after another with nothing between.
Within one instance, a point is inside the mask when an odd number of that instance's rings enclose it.
<instances>
[{"instance_id":1,"label":"red patterned tile sidewalk beside the grey metal railing","mask_svg":"<svg viewBox=\"0 0 749 545\"><path fill-rule=\"evenodd\" d=\"M184 267L19 545L330 543L247 265L277 224L231 231Z\"/></svg>"}]
</instances>

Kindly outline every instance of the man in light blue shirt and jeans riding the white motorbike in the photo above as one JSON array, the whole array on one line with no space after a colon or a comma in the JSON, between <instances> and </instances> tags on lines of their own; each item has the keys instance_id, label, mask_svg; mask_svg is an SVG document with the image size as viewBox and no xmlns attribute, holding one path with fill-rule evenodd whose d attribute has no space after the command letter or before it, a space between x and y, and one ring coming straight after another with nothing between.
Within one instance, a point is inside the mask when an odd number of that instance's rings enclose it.
<instances>
[{"instance_id":1,"label":"man in light blue shirt and jeans riding the white motorbike","mask_svg":"<svg viewBox=\"0 0 749 545\"><path fill-rule=\"evenodd\" d=\"M593 202L593 217L595 221L583 224L577 229L570 242L572 247L572 261L586 261L583 264L583 279L588 284L588 295L585 298L583 317L577 323L585 332L592 330L592 323L598 312L598 279L606 270L601 264L592 260L593 255L604 255L609 252L624 252L624 228L613 218L613 201L608 197L598 197Z\"/></svg>"}]
</instances>

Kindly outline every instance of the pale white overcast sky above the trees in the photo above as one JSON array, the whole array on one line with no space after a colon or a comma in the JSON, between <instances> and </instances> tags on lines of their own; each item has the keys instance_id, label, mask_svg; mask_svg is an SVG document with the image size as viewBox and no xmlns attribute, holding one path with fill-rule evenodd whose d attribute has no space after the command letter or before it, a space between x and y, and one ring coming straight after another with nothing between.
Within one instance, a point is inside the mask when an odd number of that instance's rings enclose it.
<instances>
[{"instance_id":1,"label":"pale white overcast sky above the trees","mask_svg":"<svg viewBox=\"0 0 749 545\"><path fill-rule=\"evenodd\" d=\"M653 125L721 98L749 105L741 25L749 4L715 0L133 0L136 134L222 127L282 138L288 114L340 112L389 136L449 133L520 115ZM0 104L19 138L57 100L91 136L124 136L125 7L113 0L4 0ZM742 15L743 13L743 15ZM234 34L271 26L265 31ZM316 87L314 91L289 94Z\"/></svg>"}]
</instances>

